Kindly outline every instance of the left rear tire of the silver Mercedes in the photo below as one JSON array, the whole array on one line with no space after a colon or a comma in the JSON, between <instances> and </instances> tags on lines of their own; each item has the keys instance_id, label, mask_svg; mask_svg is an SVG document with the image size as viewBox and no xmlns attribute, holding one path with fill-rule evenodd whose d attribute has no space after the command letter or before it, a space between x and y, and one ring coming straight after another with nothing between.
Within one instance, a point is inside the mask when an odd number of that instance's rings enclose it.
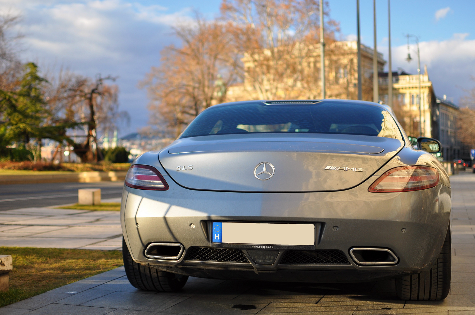
<instances>
[{"instance_id":1,"label":"left rear tire of the silver Mercedes","mask_svg":"<svg viewBox=\"0 0 475 315\"><path fill-rule=\"evenodd\" d=\"M134 287L147 291L175 292L185 286L188 276L160 271L143 266L132 259L125 240L122 238L123 267L127 279Z\"/></svg>"}]
</instances>

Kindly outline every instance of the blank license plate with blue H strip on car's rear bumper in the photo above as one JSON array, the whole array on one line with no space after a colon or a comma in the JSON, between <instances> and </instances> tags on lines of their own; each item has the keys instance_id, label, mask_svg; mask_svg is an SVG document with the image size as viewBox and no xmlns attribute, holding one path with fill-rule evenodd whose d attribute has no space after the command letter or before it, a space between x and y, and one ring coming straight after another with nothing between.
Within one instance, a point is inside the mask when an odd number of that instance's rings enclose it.
<instances>
[{"instance_id":1,"label":"blank license plate with blue H strip on car's rear bumper","mask_svg":"<svg viewBox=\"0 0 475 315\"><path fill-rule=\"evenodd\" d=\"M213 222L213 243L314 245L315 224Z\"/></svg>"}]
</instances>

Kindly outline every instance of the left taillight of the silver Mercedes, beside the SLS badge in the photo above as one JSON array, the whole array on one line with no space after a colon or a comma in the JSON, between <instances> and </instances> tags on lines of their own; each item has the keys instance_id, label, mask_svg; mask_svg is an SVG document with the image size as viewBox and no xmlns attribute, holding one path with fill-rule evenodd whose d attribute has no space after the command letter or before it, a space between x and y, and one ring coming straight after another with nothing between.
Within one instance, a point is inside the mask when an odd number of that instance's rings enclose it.
<instances>
[{"instance_id":1,"label":"left taillight of the silver Mercedes, beside the SLS badge","mask_svg":"<svg viewBox=\"0 0 475 315\"><path fill-rule=\"evenodd\" d=\"M133 165L125 176L125 185L136 189L167 190L168 184L160 172L148 165Z\"/></svg>"}]
</instances>

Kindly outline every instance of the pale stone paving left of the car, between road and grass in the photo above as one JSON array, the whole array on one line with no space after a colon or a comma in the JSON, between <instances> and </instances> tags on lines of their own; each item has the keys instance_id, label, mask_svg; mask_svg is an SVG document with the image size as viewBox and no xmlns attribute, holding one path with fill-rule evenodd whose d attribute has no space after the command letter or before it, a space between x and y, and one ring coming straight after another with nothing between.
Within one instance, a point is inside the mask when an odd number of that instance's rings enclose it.
<instances>
[{"instance_id":1,"label":"pale stone paving left of the car, between road and grass","mask_svg":"<svg viewBox=\"0 0 475 315\"><path fill-rule=\"evenodd\" d=\"M103 202L120 202L120 198L104 199ZM119 212L53 207L0 211L0 244L122 250Z\"/></svg>"}]
</instances>

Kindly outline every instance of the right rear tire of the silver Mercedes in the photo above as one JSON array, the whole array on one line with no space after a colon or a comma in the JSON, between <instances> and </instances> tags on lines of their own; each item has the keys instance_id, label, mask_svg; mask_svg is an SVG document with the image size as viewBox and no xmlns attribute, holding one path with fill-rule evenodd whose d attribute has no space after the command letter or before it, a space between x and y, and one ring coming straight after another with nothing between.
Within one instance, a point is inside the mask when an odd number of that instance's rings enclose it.
<instances>
[{"instance_id":1,"label":"right rear tire of the silver Mercedes","mask_svg":"<svg viewBox=\"0 0 475 315\"><path fill-rule=\"evenodd\" d=\"M450 291L452 269L452 249L450 243L450 226L437 258L429 271L396 279L396 294L401 300L429 301L443 300Z\"/></svg>"}]
</instances>

